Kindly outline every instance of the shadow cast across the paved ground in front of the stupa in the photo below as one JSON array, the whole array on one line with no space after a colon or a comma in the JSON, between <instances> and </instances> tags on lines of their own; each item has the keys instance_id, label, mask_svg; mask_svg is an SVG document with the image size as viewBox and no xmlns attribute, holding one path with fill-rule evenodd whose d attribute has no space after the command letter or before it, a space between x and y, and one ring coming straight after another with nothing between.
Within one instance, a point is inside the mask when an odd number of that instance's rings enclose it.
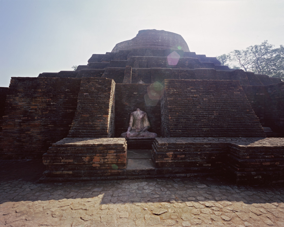
<instances>
[{"instance_id":1,"label":"shadow cast across the paved ground in front of the stupa","mask_svg":"<svg viewBox=\"0 0 284 227\"><path fill-rule=\"evenodd\" d=\"M93 198L101 204L241 201L282 203L283 185L237 186L222 177L37 183L41 160L0 160L0 203Z\"/></svg>"}]
</instances>

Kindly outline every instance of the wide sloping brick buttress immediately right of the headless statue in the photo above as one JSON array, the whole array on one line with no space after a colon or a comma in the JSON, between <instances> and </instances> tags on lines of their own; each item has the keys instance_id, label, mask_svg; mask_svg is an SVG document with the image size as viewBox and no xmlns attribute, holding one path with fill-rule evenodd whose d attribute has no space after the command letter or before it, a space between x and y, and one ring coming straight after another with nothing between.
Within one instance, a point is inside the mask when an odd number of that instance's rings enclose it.
<instances>
[{"instance_id":1,"label":"wide sloping brick buttress immediately right of the headless statue","mask_svg":"<svg viewBox=\"0 0 284 227\"><path fill-rule=\"evenodd\" d=\"M238 81L165 80L165 137L265 137Z\"/></svg>"}]
</instances>

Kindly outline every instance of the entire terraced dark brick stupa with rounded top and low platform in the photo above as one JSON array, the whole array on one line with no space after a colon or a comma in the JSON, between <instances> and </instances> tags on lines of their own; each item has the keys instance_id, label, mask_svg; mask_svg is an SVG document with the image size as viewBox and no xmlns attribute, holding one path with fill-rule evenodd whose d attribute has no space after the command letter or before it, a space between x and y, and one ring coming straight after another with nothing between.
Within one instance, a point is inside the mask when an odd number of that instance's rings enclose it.
<instances>
[{"instance_id":1,"label":"entire terraced dark brick stupa with rounded top and low platform","mask_svg":"<svg viewBox=\"0 0 284 227\"><path fill-rule=\"evenodd\" d=\"M141 30L75 71L12 77L0 91L0 158L42 157L42 180L284 181L284 83L191 52L179 34ZM137 108L154 140L119 138ZM152 151L151 164L133 168L128 148Z\"/></svg>"}]
</instances>

